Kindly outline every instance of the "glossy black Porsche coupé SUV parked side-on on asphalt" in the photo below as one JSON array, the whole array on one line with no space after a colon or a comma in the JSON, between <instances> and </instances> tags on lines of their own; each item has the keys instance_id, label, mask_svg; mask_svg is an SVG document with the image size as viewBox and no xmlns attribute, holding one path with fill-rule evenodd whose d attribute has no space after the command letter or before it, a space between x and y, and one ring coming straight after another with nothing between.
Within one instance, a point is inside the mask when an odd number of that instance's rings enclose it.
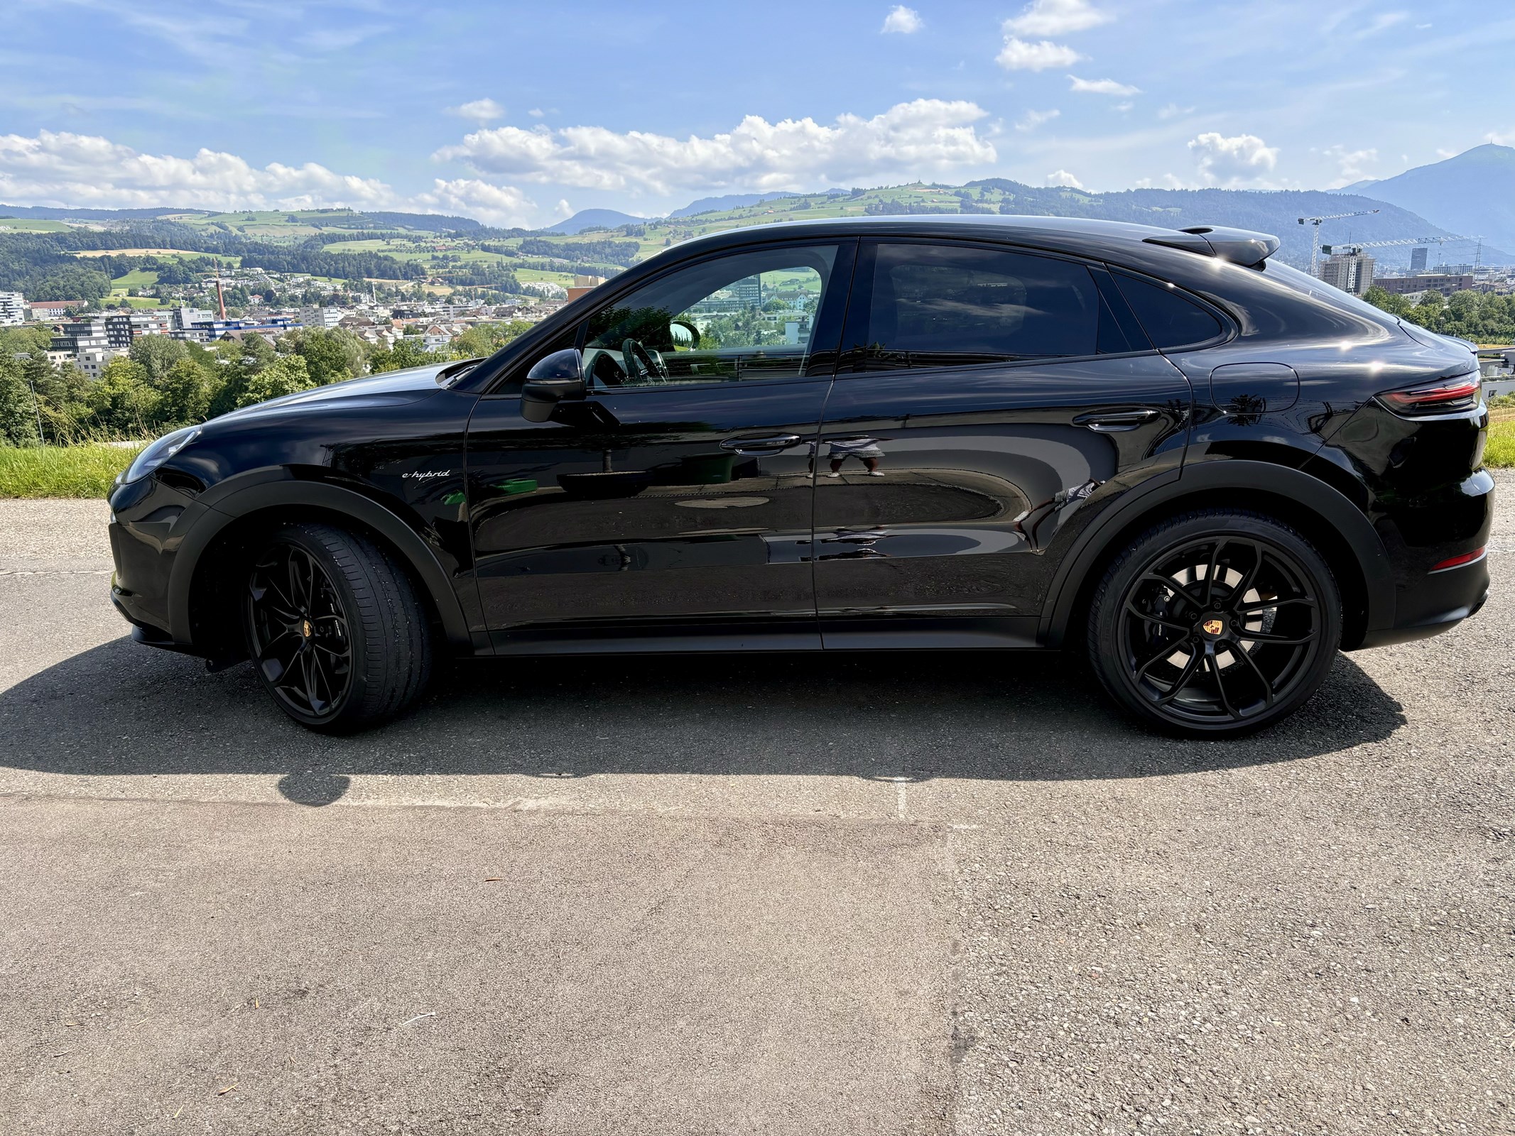
<instances>
[{"instance_id":1,"label":"glossy black Porsche coup\u00e9 SUV parked side-on on asphalt","mask_svg":"<svg viewBox=\"0 0 1515 1136\"><path fill-rule=\"evenodd\" d=\"M317 730L397 713L444 651L892 648L1086 650L1150 722L1256 729L1338 650L1474 613L1494 500L1468 345L1277 245L691 241L489 359L161 438L111 495L112 597Z\"/></svg>"}]
</instances>

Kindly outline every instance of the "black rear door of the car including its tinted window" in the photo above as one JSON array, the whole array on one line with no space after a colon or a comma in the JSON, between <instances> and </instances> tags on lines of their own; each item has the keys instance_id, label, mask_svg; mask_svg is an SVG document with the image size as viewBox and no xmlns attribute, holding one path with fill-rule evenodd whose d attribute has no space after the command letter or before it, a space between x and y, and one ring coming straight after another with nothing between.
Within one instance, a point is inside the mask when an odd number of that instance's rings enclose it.
<instances>
[{"instance_id":1,"label":"black rear door of the car including its tinted window","mask_svg":"<svg viewBox=\"0 0 1515 1136\"><path fill-rule=\"evenodd\" d=\"M1179 468L1189 410L1103 267L864 242L818 447L826 645L1032 644L1073 536Z\"/></svg>"}]
</instances>

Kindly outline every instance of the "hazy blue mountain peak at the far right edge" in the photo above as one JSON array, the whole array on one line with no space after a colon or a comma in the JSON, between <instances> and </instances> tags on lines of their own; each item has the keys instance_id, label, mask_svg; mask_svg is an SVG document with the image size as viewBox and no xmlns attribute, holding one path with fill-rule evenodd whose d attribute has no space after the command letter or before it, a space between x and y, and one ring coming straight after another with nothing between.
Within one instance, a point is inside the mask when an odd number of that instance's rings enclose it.
<instances>
[{"instance_id":1,"label":"hazy blue mountain peak at the far right edge","mask_svg":"<svg viewBox=\"0 0 1515 1136\"><path fill-rule=\"evenodd\" d=\"M1445 162L1347 189L1391 201L1454 233L1515 248L1515 147L1476 145Z\"/></svg>"}]
</instances>

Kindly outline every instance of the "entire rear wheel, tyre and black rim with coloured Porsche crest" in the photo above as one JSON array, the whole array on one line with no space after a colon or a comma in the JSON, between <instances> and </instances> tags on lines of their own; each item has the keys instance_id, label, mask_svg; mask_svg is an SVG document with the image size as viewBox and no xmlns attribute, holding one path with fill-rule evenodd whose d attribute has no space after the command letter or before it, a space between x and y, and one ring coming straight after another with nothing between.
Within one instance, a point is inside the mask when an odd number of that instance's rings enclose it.
<instances>
[{"instance_id":1,"label":"entire rear wheel, tyre and black rim with coloured Porsche crest","mask_svg":"<svg viewBox=\"0 0 1515 1136\"><path fill-rule=\"evenodd\" d=\"M1188 738L1288 718L1330 671L1341 592L1298 532L1264 513L1200 509L1153 526L1104 573L1089 663L1126 710Z\"/></svg>"}]
</instances>

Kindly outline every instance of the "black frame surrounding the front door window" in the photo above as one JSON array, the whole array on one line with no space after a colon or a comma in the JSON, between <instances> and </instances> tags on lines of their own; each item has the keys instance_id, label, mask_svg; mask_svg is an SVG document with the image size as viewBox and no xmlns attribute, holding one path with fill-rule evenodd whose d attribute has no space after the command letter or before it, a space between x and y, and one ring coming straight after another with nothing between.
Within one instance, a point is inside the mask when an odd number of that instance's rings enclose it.
<instances>
[{"instance_id":1,"label":"black frame surrounding the front door window","mask_svg":"<svg viewBox=\"0 0 1515 1136\"><path fill-rule=\"evenodd\" d=\"M786 379L750 379L750 380L742 380L742 382L730 382L730 380L723 380L723 379L712 379L709 382L697 382L697 383L644 383L641 386L617 386L617 388L612 388L611 391L591 391L591 395L594 395L594 394L617 394L617 395L621 395L621 394L636 394L638 391L670 391L670 389L677 389L677 391L709 391L709 389L751 391L751 389L758 389L758 388L762 388L762 386L779 386L779 385L811 383L811 382L830 382L836 376L836 365L838 365L838 362L841 359L841 344L842 344L842 330L845 327L845 318L847 318L847 304L851 300L853 279L854 279L854 273L856 273L856 268L857 268L857 244L859 244L859 238L856 238L856 236L815 236L815 235L812 235L812 236L794 236L794 238L788 238L788 239L782 239L782 241L754 241L753 244L744 244L744 245L738 245L735 248L720 248L720 250L706 253L703 256L692 256L692 257L688 257L685 261L679 261L677 264L668 265L661 273L653 273L650 276L641 276L641 277L638 277L635 280L626 282L621 288L618 288L615 292L612 292L608 298L601 300L594 307L591 307L588 312L585 312L583 315L580 315L576 320L576 323L573 324L574 347L576 347L576 350L579 350L582 353L583 351L583 344L585 344L585 333L586 333L586 330L589 327L589 320L594 318L595 314L598 314L600 311L603 311L604 307L608 307L611 304L620 303L624 297L630 295L632 292L638 291L639 288L645 288L647 285L651 285L651 283L656 283L658 280L667 279L668 276L673 276L674 273L680 273L685 268L692 268L695 265L708 264L711 261L724 261L724 259L729 259L729 257L733 257L733 256L745 256L748 253L762 253L762 251L768 251L768 250L773 250L773 248L786 248L786 247L814 248L817 245L835 245L835 248L836 248L836 259L832 262L832 283L835 285L835 289L827 291L827 292L823 294L823 304L817 311L817 317L815 317L815 333L817 335L820 335L820 332L826 327L827 320L833 320L835 324L836 324L836 344L829 351L830 356L832 356L830 370L826 370L826 371L821 371L821 373L817 373L817 374L789 376ZM601 285L601 288L604 285ZM544 344L553 342L556 338L562 336L567 330L568 330L568 327L564 327L564 329L559 329L558 332L554 332L551 335L547 335L544 338ZM824 354L824 353L826 353L826 348L817 348L817 350L811 351L811 357L814 359L815 356ZM512 365L506 367L504 370L501 370L501 373L491 380L489 389L485 391L480 397L482 398L520 398L521 397L520 389L515 389L515 391L501 391L500 388L509 385L511 380L521 370L527 370L530 367L530 364L527 362L527 359L535 360L535 351L523 354L523 357L520 360L512 360Z\"/></svg>"}]
</instances>

